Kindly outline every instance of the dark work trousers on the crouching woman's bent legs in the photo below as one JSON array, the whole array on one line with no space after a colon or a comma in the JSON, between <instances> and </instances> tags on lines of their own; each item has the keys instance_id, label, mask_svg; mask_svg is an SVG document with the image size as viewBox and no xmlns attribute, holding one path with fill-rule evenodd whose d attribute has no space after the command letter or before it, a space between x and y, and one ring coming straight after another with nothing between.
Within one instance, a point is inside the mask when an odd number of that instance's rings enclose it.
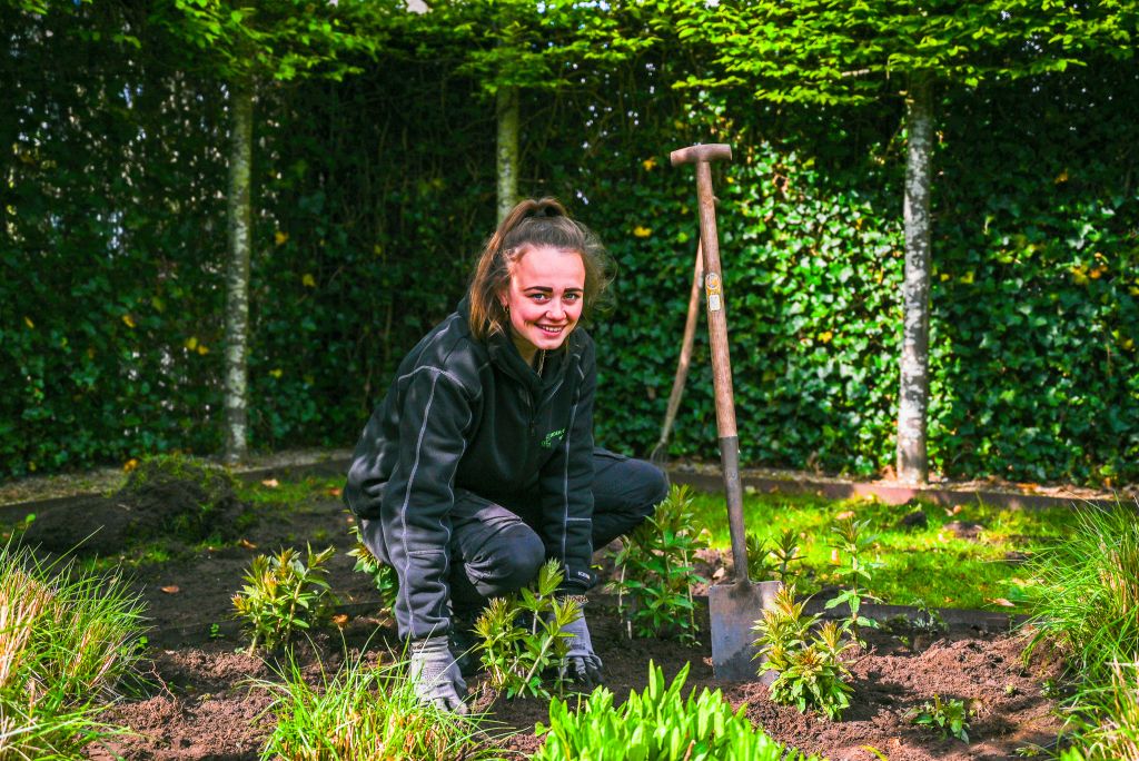
<instances>
[{"instance_id":1,"label":"dark work trousers on the crouching woman's bent legs","mask_svg":"<svg viewBox=\"0 0 1139 761\"><path fill-rule=\"evenodd\" d=\"M656 466L595 449L593 548L600 549L636 529L667 493L669 480ZM536 532L539 516L514 507L456 490L448 547L452 613L465 619L474 616L489 598L517 591L533 581L546 562L546 548ZM378 522L361 521L361 533L370 547L377 539L378 525L369 530L369 524Z\"/></svg>"}]
</instances>

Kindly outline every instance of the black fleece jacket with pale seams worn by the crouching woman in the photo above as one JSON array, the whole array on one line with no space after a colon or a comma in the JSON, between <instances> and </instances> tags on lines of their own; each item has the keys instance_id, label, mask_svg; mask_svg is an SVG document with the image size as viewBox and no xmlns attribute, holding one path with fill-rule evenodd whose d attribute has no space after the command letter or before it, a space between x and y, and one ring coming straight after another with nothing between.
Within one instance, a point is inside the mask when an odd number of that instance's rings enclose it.
<instances>
[{"instance_id":1,"label":"black fleece jacket with pale seams worn by the crouching woman","mask_svg":"<svg viewBox=\"0 0 1139 761\"><path fill-rule=\"evenodd\" d=\"M467 314L464 301L401 362L344 489L353 513L380 521L377 549L400 580L395 620L412 639L450 629L456 489L526 506L547 557L566 568L566 590L593 583L593 341L575 329L539 377L508 337L476 339Z\"/></svg>"}]
</instances>

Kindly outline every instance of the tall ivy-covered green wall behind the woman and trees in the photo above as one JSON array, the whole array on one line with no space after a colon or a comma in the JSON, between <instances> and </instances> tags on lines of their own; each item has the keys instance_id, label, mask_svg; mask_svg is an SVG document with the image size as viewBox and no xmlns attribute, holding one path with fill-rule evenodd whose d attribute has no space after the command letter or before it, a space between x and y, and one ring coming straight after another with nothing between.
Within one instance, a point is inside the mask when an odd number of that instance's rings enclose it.
<instances>
[{"instance_id":1,"label":"tall ivy-covered green wall behind the woman and trees","mask_svg":"<svg viewBox=\"0 0 1139 761\"><path fill-rule=\"evenodd\" d=\"M110 23L25 19L0 66L8 476L221 445L224 85L147 44L159 32L139 27L140 54L92 24ZM402 38L344 82L259 91L254 448L354 443L395 363L461 296L494 223L494 109L452 44ZM616 308L592 328L598 439L642 453L658 434L697 238L691 169L667 155L723 141L744 458L880 473L899 383L901 107L674 89L702 55L664 40L523 93L523 193L565 199L620 264ZM1139 476L1137 96L1133 64L1096 62L941 93L935 472ZM714 458L714 425L702 333L671 453Z\"/></svg>"}]
</instances>

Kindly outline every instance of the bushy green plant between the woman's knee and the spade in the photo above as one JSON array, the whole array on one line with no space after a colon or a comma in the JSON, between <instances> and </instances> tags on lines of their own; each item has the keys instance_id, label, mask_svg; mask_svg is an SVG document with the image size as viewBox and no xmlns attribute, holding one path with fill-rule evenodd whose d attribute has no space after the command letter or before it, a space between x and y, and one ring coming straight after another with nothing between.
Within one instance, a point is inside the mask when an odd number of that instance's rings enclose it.
<instances>
[{"instance_id":1,"label":"bushy green plant between the woman's knee and the spade","mask_svg":"<svg viewBox=\"0 0 1139 761\"><path fill-rule=\"evenodd\" d=\"M697 643L693 584L707 580L696 573L693 563L707 541L694 517L688 486L673 485L656 513L637 526L614 555L621 571L609 589L617 592L621 616L638 637Z\"/></svg>"}]
</instances>

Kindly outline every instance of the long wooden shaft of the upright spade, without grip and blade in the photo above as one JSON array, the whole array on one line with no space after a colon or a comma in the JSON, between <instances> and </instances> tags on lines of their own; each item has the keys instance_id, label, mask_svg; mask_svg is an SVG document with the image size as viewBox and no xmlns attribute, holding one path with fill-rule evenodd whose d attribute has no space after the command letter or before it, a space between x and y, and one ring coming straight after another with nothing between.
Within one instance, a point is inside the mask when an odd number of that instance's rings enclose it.
<instances>
[{"instance_id":1,"label":"long wooden shaft of the upright spade, without grip and blade","mask_svg":"<svg viewBox=\"0 0 1139 761\"><path fill-rule=\"evenodd\" d=\"M736 570L736 581L748 583L744 496L739 483L739 434L736 431L735 390L731 384L731 357L728 352L728 314L723 297L723 273L720 267L715 198L712 194L712 166L706 161L696 163L696 196L700 214L700 248L704 249L704 294L712 345L715 423L720 436L724 496L728 501L732 565Z\"/></svg>"}]
</instances>

